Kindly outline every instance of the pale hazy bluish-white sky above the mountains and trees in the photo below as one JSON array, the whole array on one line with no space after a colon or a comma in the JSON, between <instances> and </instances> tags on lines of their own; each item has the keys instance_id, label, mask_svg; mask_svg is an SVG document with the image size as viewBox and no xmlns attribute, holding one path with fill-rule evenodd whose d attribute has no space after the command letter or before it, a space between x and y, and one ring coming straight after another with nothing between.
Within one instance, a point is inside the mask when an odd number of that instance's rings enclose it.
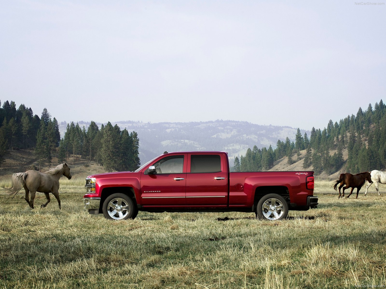
<instances>
[{"instance_id":1,"label":"pale hazy bluish-white sky above the mountains and trees","mask_svg":"<svg viewBox=\"0 0 386 289\"><path fill-rule=\"evenodd\" d=\"M323 128L386 102L372 3L5 0L0 100L59 122Z\"/></svg>"}]
</instances>

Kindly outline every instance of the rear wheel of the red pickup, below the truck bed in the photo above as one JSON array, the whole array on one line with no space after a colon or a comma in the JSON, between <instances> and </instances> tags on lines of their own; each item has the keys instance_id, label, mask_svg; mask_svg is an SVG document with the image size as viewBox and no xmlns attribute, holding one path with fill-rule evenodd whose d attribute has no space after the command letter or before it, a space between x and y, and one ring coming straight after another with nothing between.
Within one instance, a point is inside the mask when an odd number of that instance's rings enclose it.
<instances>
[{"instance_id":1,"label":"rear wheel of the red pickup, below the truck bed","mask_svg":"<svg viewBox=\"0 0 386 289\"><path fill-rule=\"evenodd\" d=\"M288 204L281 195L268 194L259 200L256 210L260 220L283 220L288 215Z\"/></svg>"}]
</instances>

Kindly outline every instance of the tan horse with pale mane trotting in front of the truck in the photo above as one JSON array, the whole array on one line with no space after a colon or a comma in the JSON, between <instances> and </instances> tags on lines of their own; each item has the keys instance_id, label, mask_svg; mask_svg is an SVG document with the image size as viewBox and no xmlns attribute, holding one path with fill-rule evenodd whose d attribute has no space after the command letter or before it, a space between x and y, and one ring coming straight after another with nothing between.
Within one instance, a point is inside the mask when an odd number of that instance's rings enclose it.
<instances>
[{"instance_id":1,"label":"tan horse with pale mane trotting in front of the truck","mask_svg":"<svg viewBox=\"0 0 386 289\"><path fill-rule=\"evenodd\" d=\"M61 209L59 198L59 178L64 175L69 180L71 179L70 168L66 163L56 166L45 173L39 171L29 170L25 173L14 173L12 175L12 186L10 188L4 188L9 194L15 195L24 188L25 200L28 205L34 208L35 193L41 192L46 195L47 203L41 205L42 208L46 207L51 201L49 193L55 196L59 203L59 209ZM31 193L31 197L28 200L28 195Z\"/></svg>"}]
</instances>

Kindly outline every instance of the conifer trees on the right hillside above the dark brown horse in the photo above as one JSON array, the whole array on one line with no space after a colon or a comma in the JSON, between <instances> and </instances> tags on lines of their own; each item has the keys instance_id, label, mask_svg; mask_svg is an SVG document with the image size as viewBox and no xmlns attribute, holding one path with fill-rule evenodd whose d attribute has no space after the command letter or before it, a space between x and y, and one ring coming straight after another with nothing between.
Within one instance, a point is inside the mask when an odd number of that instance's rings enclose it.
<instances>
[{"instance_id":1,"label":"conifer trees on the right hillside above the dark brown horse","mask_svg":"<svg viewBox=\"0 0 386 289\"><path fill-rule=\"evenodd\" d=\"M245 156L235 158L234 171L269 170L274 161L288 157L288 163L306 150L303 160L304 169L313 169L315 175L323 171L327 175L339 171L345 163L343 151L347 149L347 172L356 174L363 171L381 170L386 167L386 106L382 99L372 108L369 104L366 111L359 108L357 114L351 114L339 123L328 121L327 128L312 128L310 137L300 130L295 142L287 138L285 142L278 140L275 150L269 148L250 148ZM334 154L331 155L331 151Z\"/></svg>"}]
</instances>

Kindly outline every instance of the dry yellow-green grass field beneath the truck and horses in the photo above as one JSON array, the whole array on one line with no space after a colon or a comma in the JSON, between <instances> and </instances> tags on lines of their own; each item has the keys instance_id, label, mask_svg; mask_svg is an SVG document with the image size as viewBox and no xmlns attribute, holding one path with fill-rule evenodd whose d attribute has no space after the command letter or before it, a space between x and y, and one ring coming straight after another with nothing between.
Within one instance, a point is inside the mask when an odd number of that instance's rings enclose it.
<instances>
[{"instance_id":1,"label":"dry yellow-green grass field beneath the truck and horses","mask_svg":"<svg viewBox=\"0 0 386 289\"><path fill-rule=\"evenodd\" d=\"M5 180L2 184L6 184ZM84 178L61 178L62 210L0 190L1 288L356 288L386 284L386 194L338 199L267 222L252 213L146 213L110 221L83 208ZM380 187L382 192L382 187ZM323 193L323 192L330 193ZM334 192L333 194L331 192Z\"/></svg>"}]
</instances>

